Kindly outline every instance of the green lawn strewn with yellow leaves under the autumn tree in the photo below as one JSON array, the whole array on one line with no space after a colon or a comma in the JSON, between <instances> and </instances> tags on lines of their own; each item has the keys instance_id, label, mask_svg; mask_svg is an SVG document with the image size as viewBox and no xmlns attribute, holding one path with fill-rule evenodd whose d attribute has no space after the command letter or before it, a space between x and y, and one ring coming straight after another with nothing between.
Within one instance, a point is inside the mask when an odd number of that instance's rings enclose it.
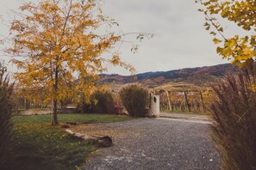
<instances>
[{"instance_id":1,"label":"green lawn strewn with yellow leaves under the autumn tree","mask_svg":"<svg viewBox=\"0 0 256 170\"><path fill-rule=\"evenodd\" d=\"M125 121L127 116L102 114L60 114L59 123L83 124ZM68 135L52 126L51 115L16 116L12 118L14 134L9 149L7 170L78 169L96 148L89 142Z\"/></svg>"}]
</instances>

